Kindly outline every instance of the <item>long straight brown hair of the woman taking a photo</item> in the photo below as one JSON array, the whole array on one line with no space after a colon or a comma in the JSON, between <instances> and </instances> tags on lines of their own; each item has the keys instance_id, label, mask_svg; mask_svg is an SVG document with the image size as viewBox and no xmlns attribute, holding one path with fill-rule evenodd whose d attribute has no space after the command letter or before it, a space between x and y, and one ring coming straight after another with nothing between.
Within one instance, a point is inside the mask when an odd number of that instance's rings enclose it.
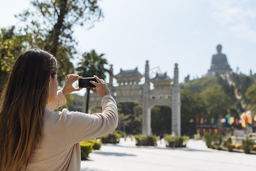
<instances>
[{"instance_id":1,"label":"long straight brown hair of the woman taking a photo","mask_svg":"<svg viewBox=\"0 0 256 171\"><path fill-rule=\"evenodd\" d=\"M46 51L31 49L17 58L0 100L0 170L27 167L42 139L50 76L58 63Z\"/></svg>"}]
</instances>

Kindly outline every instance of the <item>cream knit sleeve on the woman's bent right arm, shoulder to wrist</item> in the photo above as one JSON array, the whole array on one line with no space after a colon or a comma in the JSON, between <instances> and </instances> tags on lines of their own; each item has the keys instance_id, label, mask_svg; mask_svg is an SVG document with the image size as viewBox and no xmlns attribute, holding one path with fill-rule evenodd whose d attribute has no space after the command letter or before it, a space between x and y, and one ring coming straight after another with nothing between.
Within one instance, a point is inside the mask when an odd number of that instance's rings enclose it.
<instances>
[{"instance_id":1,"label":"cream knit sleeve on the woman's bent right arm, shoulder to wrist","mask_svg":"<svg viewBox=\"0 0 256 171\"><path fill-rule=\"evenodd\" d=\"M102 113L87 114L82 112L62 111L62 119L67 136L72 144L95 139L114 131L118 123L116 101L106 95L101 100Z\"/></svg>"}]
</instances>

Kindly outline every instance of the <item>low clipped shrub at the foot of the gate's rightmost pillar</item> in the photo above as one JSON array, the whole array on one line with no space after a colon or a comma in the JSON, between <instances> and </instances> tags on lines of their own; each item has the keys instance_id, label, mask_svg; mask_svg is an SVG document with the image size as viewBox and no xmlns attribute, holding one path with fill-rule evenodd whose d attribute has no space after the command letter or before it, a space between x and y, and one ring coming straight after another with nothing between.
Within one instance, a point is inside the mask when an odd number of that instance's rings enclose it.
<instances>
[{"instance_id":1,"label":"low clipped shrub at the foot of the gate's rightmost pillar","mask_svg":"<svg viewBox=\"0 0 256 171\"><path fill-rule=\"evenodd\" d=\"M188 143L189 137L188 136L172 136L172 135L166 135L164 137L166 146L169 147L185 147L186 143Z\"/></svg>"}]
</instances>

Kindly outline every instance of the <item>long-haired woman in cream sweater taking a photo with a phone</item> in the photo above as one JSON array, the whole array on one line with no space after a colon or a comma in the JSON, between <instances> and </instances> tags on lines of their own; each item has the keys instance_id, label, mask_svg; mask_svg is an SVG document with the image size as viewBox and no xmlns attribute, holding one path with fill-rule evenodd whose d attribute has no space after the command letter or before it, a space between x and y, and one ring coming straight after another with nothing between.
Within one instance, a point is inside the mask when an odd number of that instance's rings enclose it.
<instances>
[{"instance_id":1,"label":"long-haired woman in cream sweater taking a photo with a phone","mask_svg":"<svg viewBox=\"0 0 256 171\"><path fill-rule=\"evenodd\" d=\"M95 76L102 113L54 112L64 95L81 88L81 77L67 75L58 91L58 63L42 50L28 50L15 61L0 101L0 170L80 170L79 142L107 135L117 127L117 107L104 80Z\"/></svg>"}]
</instances>

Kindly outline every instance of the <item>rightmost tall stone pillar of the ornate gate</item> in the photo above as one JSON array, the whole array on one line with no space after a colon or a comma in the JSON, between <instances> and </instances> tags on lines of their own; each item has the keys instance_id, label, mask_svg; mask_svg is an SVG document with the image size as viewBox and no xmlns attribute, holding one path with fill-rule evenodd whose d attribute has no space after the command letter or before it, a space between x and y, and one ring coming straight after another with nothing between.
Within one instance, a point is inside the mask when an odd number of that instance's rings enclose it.
<instances>
[{"instance_id":1,"label":"rightmost tall stone pillar of the ornate gate","mask_svg":"<svg viewBox=\"0 0 256 171\"><path fill-rule=\"evenodd\" d=\"M178 83L178 64L174 68L174 82L172 87L172 132L176 136L181 136L181 102L180 85Z\"/></svg>"}]
</instances>

